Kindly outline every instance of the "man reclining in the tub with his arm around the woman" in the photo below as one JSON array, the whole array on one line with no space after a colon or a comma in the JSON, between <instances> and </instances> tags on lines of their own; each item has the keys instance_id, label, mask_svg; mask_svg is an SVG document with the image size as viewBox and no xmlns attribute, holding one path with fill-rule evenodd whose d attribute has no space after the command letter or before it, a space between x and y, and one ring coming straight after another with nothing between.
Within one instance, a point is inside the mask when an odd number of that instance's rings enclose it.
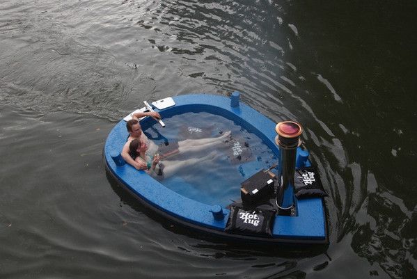
<instances>
[{"instance_id":1,"label":"man reclining in the tub with his arm around the woman","mask_svg":"<svg viewBox=\"0 0 417 279\"><path fill-rule=\"evenodd\" d=\"M162 145L158 146L153 141L151 141L144 133L142 133L142 127L139 123L139 118L143 116L150 116L152 118L161 118L161 115L157 112L146 112L146 113L134 113L132 119L127 121L126 128L129 132L129 138L123 146L121 155L125 161L134 166L137 170L146 170L148 165L144 161L134 160L129 154L129 144L134 139L139 139L139 141L146 143L148 145L147 154L150 157L153 157L154 154L159 153L159 157L164 159L165 157L171 156L178 153L186 152L197 152L205 150L207 148L212 148L214 145L222 143L228 136L230 136L230 131L224 132L221 136L217 138L200 138L200 139L187 139L184 141L178 141L178 143L170 143L168 146Z\"/></svg>"}]
</instances>

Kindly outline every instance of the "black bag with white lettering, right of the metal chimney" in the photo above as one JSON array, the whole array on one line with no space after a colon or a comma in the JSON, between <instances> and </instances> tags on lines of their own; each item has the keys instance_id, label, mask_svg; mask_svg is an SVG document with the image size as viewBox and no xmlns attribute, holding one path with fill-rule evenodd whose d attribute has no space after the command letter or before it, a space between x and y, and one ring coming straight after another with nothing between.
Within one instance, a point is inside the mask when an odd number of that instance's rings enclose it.
<instances>
[{"instance_id":1,"label":"black bag with white lettering, right of the metal chimney","mask_svg":"<svg viewBox=\"0 0 417 279\"><path fill-rule=\"evenodd\" d=\"M294 190L297 198L326 197L320 176L314 167L304 167L295 170Z\"/></svg>"}]
</instances>

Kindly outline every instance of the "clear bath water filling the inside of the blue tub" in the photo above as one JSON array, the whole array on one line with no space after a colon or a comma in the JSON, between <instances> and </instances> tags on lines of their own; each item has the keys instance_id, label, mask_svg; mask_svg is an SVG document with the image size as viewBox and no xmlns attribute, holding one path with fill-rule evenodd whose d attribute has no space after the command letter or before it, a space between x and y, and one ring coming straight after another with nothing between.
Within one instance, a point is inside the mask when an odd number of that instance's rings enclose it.
<instances>
[{"instance_id":1,"label":"clear bath water filling the inside of the blue tub","mask_svg":"<svg viewBox=\"0 0 417 279\"><path fill-rule=\"evenodd\" d=\"M244 180L277 164L274 152L233 120L200 112L164 122L165 128L156 123L144 130L159 154L168 154L161 161L164 175L156 178L187 198L226 207L239 200Z\"/></svg>"}]
</instances>

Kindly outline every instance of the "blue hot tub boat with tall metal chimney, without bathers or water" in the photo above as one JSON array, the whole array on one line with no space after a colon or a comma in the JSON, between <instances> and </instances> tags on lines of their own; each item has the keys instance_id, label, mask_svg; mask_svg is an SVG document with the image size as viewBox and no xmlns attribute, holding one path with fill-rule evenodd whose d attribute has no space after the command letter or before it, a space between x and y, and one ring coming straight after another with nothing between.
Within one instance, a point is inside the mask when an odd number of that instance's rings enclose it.
<instances>
[{"instance_id":1,"label":"blue hot tub boat with tall metal chimney, without bathers or water","mask_svg":"<svg viewBox=\"0 0 417 279\"><path fill-rule=\"evenodd\" d=\"M266 183L261 182L265 185L248 185L251 179L246 182L242 181L240 193L242 202L234 202L227 207L207 205L182 196L168 189L145 171L136 170L129 164L125 164L120 152L129 136L126 129L126 120L129 118L127 115L127 118L120 120L109 133L104 145L104 161L107 172L143 205L175 223L231 241L262 244L328 243L324 198L314 195L297 198L294 195L294 185L292 185L294 184L294 167L297 169L310 167L308 152L299 146L299 135L302 129L297 126L296 122L289 122L289 125L284 123L278 127L279 125L265 115L239 102L237 92L231 97L205 94L180 95L168 97L153 102L152 105L147 104L147 106L148 109L155 109L159 112L163 119L187 112L207 112L233 120L237 125L241 125L258 136L282 163L278 164L276 177L267 170L251 177L252 182L256 184L259 177L266 176ZM143 130L151 125L155 125L153 118L141 119ZM169 129L169 127L164 129ZM288 164L285 161L289 161ZM265 192L268 192L266 197L268 208L265 207L265 195L262 196L262 202L256 201L256 194L262 192L262 186L272 187L269 188L272 189L271 191ZM250 228L239 230L239 225L267 228L262 228L260 232Z\"/></svg>"}]
</instances>

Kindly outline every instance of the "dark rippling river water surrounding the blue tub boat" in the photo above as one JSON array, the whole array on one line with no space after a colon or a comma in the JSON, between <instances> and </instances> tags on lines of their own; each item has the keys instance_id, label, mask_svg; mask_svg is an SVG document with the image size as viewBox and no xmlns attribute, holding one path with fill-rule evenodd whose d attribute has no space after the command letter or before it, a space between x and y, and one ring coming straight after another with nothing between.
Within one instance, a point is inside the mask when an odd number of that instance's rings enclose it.
<instances>
[{"instance_id":1,"label":"dark rippling river water surrounding the blue tub boat","mask_svg":"<svg viewBox=\"0 0 417 279\"><path fill-rule=\"evenodd\" d=\"M415 1L1 1L1 278L416 278ZM298 120L329 247L231 246L107 179L125 114L243 93Z\"/></svg>"}]
</instances>

